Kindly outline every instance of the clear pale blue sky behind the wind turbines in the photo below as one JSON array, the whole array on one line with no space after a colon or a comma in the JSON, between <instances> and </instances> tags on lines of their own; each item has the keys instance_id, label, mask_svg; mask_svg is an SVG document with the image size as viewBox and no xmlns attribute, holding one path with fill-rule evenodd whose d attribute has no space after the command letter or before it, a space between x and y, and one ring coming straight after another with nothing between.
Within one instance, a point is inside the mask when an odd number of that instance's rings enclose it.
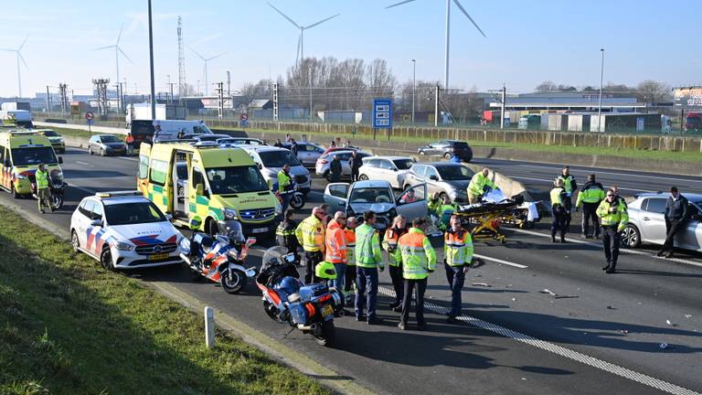
<instances>
[{"instance_id":1,"label":"clear pale blue sky behind the wind turbines","mask_svg":"<svg viewBox=\"0 0 702 395\"><path fill-rule=\"evenodd\" d=\"M543 80L597 85L600 48L606 48L605 82L671 85L702 81L699 24L702 1L677 0L461 0L487 38L452 5L451 86L479 90L532 91ZM301 25L341 16L305 32L305 56L388 60L399 81L443 79L443 0L417 0L384 9L392 0L271 0ZM293 65L299 30L261 0L153 0L157 90L166 75L177 81L176 17L186 45L205 57L228 53L209 65L210 85L232 75L232 87L277 75ZM21 70L24 96L65 81L76 93L90 80L114 80L112 45L124 28L120 61L129 91L148 90L146 1L6 2L0 14L0 48L16 48L28 35ZM0 96L17 92L16 59L0 52ZM186 77L203 79L203 62L186 50ZM203 82L201 82L203 83ZM136 84L136 85L134 85ZM203 88L204 89L204 88Z\"/></svg>"}]
</instances>

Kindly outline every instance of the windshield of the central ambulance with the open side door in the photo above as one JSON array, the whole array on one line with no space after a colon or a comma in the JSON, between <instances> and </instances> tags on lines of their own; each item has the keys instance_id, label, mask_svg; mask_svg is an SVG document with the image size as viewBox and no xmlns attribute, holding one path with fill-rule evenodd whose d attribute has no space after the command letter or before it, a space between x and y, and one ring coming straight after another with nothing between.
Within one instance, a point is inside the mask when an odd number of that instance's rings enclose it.
<instances>
[{"instance_id":1,"label":"windshield of the central ambulance with the open side door","mask_svg":"<svg viewBox=\"0 0 702 395\"><path fill-rule=\"evenodd\" d=\"M268 190L266 180L255 165L210 167L206 170L209 187L215 195Z\"/></svg>"}]
</instances>

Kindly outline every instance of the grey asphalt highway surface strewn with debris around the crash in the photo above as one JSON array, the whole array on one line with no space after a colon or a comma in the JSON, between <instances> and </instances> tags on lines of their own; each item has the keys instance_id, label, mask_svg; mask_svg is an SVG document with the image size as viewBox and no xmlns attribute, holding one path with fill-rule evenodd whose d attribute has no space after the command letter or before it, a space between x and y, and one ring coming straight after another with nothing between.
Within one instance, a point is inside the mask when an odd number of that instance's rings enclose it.
<instances>
[{"instance_id":1,"label":"grey asphalt highway surface strewn with debris around the crash","mask_svg":"<svg viewBox=\"0 0 702 395\"><path fill-rule=\"evenodd\" d=\"M70 148L62 156L70 184L66 206L44 216L61 227L68 229L81 197L135 187L134 157L102 158ZM547 189L558 175L556 165L478 162L534 189ZM580 166L572 169L580 182L590 172ZM702 189L694 177L672 180L603 169L598 173L601 182L616 183L625 194L665 189L671 181L683 193ZM312 202L300 218L321 201L322 190L324 181L315 178ZM12 197L0 193L0 200ZM34 200L14 202L37 210ZM413 330L410 315L410 330L400 331L398 314L388 310L392 292L386 271L380 276L382 324L339 318L338 345L331 349L298 331L284 337L287 326L263 313L261 294L252 284L242 294L229 295L212 283L191 281L180 266L125 274L144 282L170 283L377 393L702 392L702 255L685 253L669 261L652 256L654 248L625 252L618 266L621 272L607 275L600 270L603 254L597 240L551 244L547 225L537 225L535 230L505 230L505 245L476 244L475 252L486 264L466 277L460 324L449 325L442 315L450 290L440 264L426 295L430 330ZM257 245L250 263L259 265L269 246ZM437 252L441 262L441 249Z\"/></svg>"}]
</instances>

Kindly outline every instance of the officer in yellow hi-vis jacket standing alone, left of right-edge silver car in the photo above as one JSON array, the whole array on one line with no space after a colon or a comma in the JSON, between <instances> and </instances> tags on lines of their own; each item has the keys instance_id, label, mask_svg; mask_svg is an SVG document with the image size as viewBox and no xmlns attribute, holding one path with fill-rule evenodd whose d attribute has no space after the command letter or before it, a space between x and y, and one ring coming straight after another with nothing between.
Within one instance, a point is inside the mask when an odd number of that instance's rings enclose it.
<instances>
[{"instance_id":1,"label":"officer in yellow hi-vis jacket standing alone, left of right-edge silver car","mask_svg":"<svg viewBox=\"0 0 702 395\"><path fill-rule=\"evenodd\" d=\"M604 257L607 265L602 267L603 271L609 273L616 272L617 259L619 258L619 244L622 240L622 230L629 222L629 212L626 204L622 204L613 188L607 191L607 195L597 208L597 216L600 217L602 226L602 245L604 247Z\"/></svg>"}]
</instances>

